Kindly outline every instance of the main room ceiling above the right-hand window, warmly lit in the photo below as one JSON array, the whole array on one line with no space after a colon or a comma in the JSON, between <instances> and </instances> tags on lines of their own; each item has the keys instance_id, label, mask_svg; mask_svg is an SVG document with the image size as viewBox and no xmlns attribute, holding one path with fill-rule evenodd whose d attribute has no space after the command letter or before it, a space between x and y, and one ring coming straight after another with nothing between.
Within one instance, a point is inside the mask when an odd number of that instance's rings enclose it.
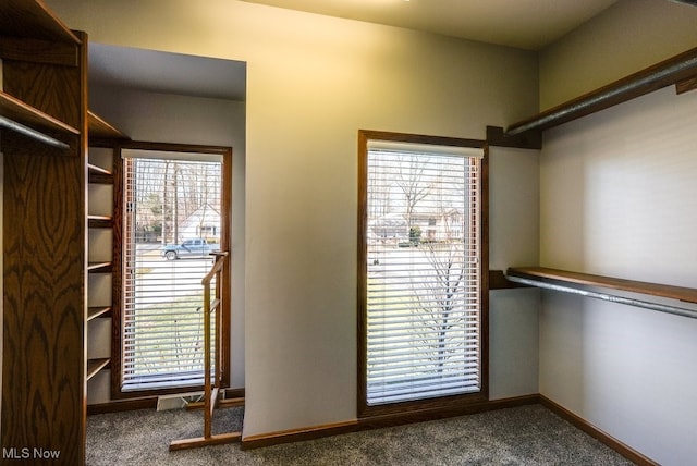
<instances>
[{"instance_id":1,"label":"main room ceiling above the right-hand window, warmly lit","mask_svg":"<svg viewBox=\"0 0 697 466\"><path fill-rule=\"evenodd\" d=\"M616 0L243 0L539 50Z\"/></svg>"}]
</instances>

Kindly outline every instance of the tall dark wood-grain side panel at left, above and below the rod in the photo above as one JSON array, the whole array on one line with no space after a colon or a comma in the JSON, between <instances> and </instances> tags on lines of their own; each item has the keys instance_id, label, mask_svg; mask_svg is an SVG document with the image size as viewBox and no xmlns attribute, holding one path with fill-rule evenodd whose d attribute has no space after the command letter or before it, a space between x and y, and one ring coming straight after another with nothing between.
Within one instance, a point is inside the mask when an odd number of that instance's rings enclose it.
<instances>
[{"instance_id":1,"label":"tall dark wood-grain side panel at left, above and below the rod","mask_svg":"<svg viewBox=\"0 0 697 466\"><path fill-rule=\"evenodd\" d=\"M37 4L3 0L2 34L8 11ZM58 451L56 463L70 465L85 462L86 413L85 48L76 48L76 57L77 66L2 62L8 95L76 130L59 137L68 150L2 132L1 446Z\"/></svg>"}]
</instances>

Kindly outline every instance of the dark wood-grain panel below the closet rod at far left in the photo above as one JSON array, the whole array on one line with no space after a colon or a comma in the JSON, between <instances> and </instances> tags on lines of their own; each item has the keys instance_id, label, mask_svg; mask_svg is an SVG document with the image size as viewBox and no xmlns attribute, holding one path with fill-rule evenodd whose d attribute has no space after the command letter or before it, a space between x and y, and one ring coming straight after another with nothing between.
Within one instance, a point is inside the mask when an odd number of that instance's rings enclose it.
<instances>
[{"instance_id":1,"label":"dark wood-grain panel below the closet rod at far left","mask_svg":"<svg viewBox=\"0 0 697 466\"><path fill-rule=\"evenodd\" d=\"M81 456L84 417L84 171L3 134L2 447ZM11 225L10 228L8 228Z\"/></svg>"}]
</instances>

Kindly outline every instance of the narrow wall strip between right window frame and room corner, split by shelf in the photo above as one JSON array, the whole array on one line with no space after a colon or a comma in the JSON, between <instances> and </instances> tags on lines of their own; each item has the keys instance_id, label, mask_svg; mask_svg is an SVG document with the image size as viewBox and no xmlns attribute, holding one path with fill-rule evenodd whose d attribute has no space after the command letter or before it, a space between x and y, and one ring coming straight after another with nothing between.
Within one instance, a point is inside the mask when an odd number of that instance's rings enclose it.
<instances>
[{"instance_id":1,"label":"narrow wall strip between right window frame and room corner, split by shelf","mask_svg":"<svg viewBox=\"0 0 697 466\"><path fill-rule=\"evenodd\" d=\"M539 261L539 151L492 147L489 158L489 267ZM537 290L492 291L491 400L538 393Z\"/></svg>"}]
</instances>

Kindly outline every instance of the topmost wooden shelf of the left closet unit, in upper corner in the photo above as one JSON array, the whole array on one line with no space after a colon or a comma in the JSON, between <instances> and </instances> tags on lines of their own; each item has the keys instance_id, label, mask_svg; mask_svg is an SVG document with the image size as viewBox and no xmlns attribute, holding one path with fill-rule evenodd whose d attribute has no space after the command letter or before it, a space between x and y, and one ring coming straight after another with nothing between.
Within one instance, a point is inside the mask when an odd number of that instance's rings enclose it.
<instances>
[{"instance_id":1,"label":"topmost wooden shelf of the left closet unit, in upper corner","mask_svg":"<svg viewBox=\"0 0 697 466\"><path fill-rule=\"evenodd\" d=\"M81 45L82 40L44 2L2 0L0 30L3 36Z\"/></svg>"}]
</instances>

